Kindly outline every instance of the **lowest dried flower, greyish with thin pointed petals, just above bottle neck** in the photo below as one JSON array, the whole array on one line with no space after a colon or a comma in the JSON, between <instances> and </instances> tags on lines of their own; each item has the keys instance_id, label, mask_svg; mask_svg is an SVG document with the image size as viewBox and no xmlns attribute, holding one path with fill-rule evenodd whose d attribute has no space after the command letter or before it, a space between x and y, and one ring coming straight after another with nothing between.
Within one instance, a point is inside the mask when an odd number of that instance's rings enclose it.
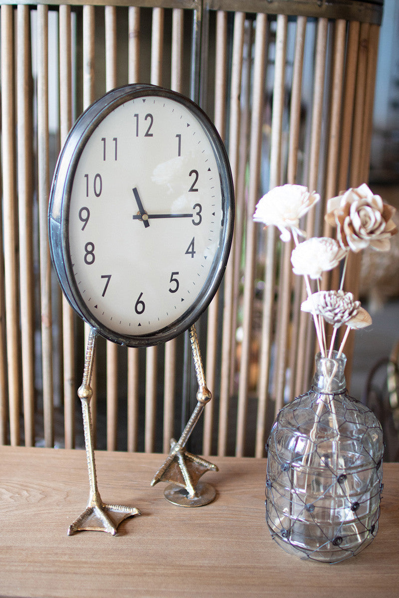
<instances>
[{"instance_id":1,"label":"lowest dried flower, greyish with thin pointed petals, just above bottle neck","mask_svg":"<svg viewBox=\"0 0 399 598\"><path fill-rule=\"evenodd\" d=\"M342 324L349 328L364 328L371 324L371 316L361 307L360 301L355 301L353 294L345 291L313 293L303 301L301 310L322 316L336 328Z\"/></svg>"}]
</instances>

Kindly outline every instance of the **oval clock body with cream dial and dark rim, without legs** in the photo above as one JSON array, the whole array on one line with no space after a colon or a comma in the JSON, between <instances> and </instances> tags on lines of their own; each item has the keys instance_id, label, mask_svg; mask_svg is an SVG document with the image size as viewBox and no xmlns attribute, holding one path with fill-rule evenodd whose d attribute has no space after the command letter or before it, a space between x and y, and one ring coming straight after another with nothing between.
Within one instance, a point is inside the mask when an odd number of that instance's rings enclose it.
<instances>
[{"instance_id":1,"label":"oval clock body with cream dial and dark rim, without legs","mask_svg":"<svg viewBox=\"0 0 399 598\"><path fill-rule=\"evenodd\" d=\"M51 254L70 303L123 344L179 334L220 283L232 204L226 152L196 105L152 86L107 94L72 129L53 181Z\"/></svg>"}]
</instances>

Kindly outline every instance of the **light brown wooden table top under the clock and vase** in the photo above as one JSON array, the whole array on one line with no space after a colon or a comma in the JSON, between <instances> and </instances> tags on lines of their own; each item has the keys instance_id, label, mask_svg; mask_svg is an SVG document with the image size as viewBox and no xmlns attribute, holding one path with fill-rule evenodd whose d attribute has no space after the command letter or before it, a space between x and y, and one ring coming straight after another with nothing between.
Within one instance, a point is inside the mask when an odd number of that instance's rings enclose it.
<instances>
[{"instance_id":1,"label":"light brown wooden table top under the clock and vase","mask_svg":"<svg viewBox=\"0 0 399 598\"><path fill-rule=\"evenodd\" d=\"M384 464L376 539L337 565L285 553L265 521L266 459L214 457L212 504L176 507L150 487L159 454L96 452L103 502L138 507L116 536L67 535L89 497L80 450L0 447L0 594L167 598L399 596L399 463Z\"/></svg>"}]
</instances>

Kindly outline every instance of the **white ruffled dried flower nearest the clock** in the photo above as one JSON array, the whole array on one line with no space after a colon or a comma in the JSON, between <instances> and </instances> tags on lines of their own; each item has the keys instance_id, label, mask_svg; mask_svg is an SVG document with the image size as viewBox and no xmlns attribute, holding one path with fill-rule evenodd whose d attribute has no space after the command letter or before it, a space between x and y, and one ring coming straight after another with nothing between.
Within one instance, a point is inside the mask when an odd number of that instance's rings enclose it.
<instances>
[{"instance_id":1,"label":"white ruffled dried flower nearest the clock","mask_svg":"<svg viewBox=\"0 0 399 598\"><path fill-rule=\"evenodd\" d=\"M309 193L302 185L275 187L259 200L254 220L266 226L276 226L284 242L291 240L291 230L303 237L306 235L299 229L299 220L319 199L318 193Z\"/></svg>"}]
</instances>

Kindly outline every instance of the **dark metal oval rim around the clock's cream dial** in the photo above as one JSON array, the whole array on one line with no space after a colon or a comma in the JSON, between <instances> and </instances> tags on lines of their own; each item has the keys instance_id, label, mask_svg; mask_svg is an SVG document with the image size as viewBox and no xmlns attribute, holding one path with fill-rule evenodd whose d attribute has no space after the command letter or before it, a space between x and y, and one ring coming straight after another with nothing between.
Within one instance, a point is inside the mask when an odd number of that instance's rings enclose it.
<instances>
[{"instance_id":1,"label":"dark metal oval rim around the clock's cream dial","mask_svg":"<svg viewBox=\"0 0 399 598\"><path fill-rule=\"evenodd\" d=\"M71 200L72 185L78 161L90 136L98 125L114 111L115 108L136 97L160 96L172 99L181 103L185 108L194 114L197 121L203 127L209 142L214 149L217 160L220 185L222 191L223 234L220 247L214 258L208 279L203 285L202 292L185 313L169 326L156 331L155 333L143 335L117 334L105 325L101 324L88 309L81 298L72 271L71 258L69 255L69 202ZM59 182L60 181L60 182ZM53 184L51 186L50 206L48 213L48 232L50 238L50 255L59 277L60 285L65 293L69 304L75 312L86 321L90 327L103 337L118 344L132 347L151 346L164 343L171 338L184 332L208 307L215 292L220 285L224 270L226 269L227 258L229 257L230 246L233 236L234 221L234 191L232 174L230 171L229 158L223 142L209 117L194 102L185 96L163 89L162 87L150 84L130 84L118 87L109 91L102 98L93 103L78 118L68 138L65 141L60 157L54 171Z\"/></svg>"}]
</instances>

